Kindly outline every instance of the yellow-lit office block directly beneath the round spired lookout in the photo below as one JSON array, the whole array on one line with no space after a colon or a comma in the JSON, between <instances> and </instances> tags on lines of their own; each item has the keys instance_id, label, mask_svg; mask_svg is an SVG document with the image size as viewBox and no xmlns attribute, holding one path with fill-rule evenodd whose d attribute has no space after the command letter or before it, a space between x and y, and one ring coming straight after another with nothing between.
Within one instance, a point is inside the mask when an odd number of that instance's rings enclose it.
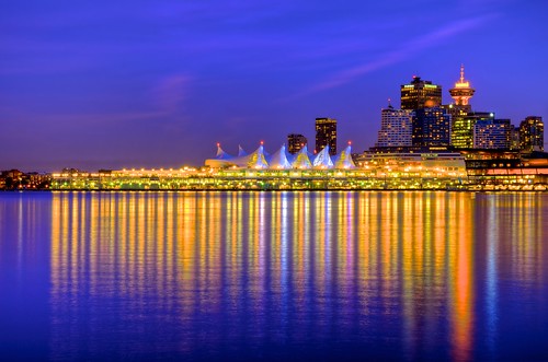
<instances>
[{"instance_id":1,"label":"yellow-lit office block directly beneath the round spired lookout","mask_svg":"<svg viewBox=\"0 0 548 362\"><path fill-rule=\"evenodd\" d=\"M494 114L489 112L454 113L452 118L450 144L457 149L473 149L473 126L479 120L492 119L494 119Z\"/></svg>"}]
</instances>

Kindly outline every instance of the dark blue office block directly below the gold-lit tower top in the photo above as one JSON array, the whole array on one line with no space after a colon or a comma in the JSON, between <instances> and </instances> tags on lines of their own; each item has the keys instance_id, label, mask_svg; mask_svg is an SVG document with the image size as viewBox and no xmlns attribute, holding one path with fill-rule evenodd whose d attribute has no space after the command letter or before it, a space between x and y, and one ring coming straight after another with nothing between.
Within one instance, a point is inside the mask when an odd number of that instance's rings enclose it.
<instances>
[{"instance_id":1,"label":"dark blue office block directly below the gold-lit tower top","mask_svg":"<svg viewBox=\"0 0 548 362\"><path fill-rule=\"evenodd\" d=\"M449 145L450 114L442 107L416 109L413 115L412 143L419 147Z\"/></svg>"}]
</instances>

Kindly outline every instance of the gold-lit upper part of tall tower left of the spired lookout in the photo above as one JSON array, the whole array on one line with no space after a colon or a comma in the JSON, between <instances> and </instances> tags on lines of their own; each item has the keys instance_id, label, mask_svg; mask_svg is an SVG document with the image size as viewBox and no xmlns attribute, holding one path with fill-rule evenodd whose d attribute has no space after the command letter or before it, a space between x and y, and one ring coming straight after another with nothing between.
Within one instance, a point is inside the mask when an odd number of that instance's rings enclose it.
<instances>
[{"instance_id":1,"label":"gold-lit upper part of tall tower left of the spired lookout","mask_svg":"<svg viewBox=\"0 0 548 362\"><path fill-rule=\"evenodd\" d=\"M401 109L438 107L442 104L442 86L413 77L410 84L401 85Z\"/></svg>"}]
</instances>

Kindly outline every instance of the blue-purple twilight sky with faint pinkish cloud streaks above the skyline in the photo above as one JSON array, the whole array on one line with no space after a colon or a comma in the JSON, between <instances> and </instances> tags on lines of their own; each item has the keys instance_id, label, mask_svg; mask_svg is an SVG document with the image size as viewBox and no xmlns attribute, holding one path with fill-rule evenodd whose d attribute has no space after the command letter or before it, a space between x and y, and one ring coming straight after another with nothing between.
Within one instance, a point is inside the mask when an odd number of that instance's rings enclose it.
<instances>
[{"instance_id":1,"label":"blue-purple twilight sky with faint pinkish cloud streaks above the skyline","mask_svg":"<svg viewBox=\"0 0 548 362\"><path fill-rule=\"evenodd\" d=\"M0 170L201 165L287 133L374 145L413 74L548 119L548 1L8 1Z\"/></svg>"}]
</instances>

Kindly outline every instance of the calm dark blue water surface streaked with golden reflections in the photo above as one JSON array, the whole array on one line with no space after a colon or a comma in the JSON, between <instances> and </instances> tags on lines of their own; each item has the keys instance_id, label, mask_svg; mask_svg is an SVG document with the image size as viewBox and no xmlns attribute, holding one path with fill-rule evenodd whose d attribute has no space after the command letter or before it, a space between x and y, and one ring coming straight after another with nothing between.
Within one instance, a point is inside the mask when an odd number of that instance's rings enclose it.
<instances>
[{"instance_id":1,"label":"calm dark blue water surface streaked with golden reflections","mask_svg":"<svg viewBox=\"0 0 548 362\"><path fill-rule=\"evenodd\" d=\"M0 359L548 360L548 194L0 194Z\"/></svg>"}]
</instances>

